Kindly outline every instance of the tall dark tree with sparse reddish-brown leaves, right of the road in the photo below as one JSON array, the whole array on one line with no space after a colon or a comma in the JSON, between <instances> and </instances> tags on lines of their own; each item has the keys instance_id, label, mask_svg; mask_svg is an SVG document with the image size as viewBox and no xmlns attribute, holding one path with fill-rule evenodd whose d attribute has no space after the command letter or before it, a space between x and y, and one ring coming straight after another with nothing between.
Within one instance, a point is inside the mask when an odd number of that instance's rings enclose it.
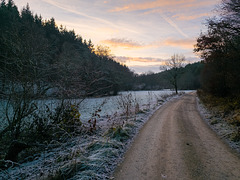
<instances>
[{"instance_id":1,"label":"tall dark tree with sparse reddish-brown leaves, right of the road","mask_svg":"<svg viewBox=\"0 0 240 180\"><path fill-rule=\"evenodd\" d=\"M194 51L205 66L203 88L216 96L240 93L240 2L223 0L219 16L207 21L208 30L197 39Z\"/></svg>"}]
</instances>

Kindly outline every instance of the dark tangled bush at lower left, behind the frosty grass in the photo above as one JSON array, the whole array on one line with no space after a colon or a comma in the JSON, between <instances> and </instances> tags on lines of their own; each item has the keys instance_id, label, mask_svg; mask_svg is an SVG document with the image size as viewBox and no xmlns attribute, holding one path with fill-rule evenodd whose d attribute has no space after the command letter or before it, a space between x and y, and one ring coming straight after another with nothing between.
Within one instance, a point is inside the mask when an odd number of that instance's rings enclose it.
<instances>
[{"instance_id":1,"label":"dark tangled bush at lower left, behind the frosty grass","mask_svg":"<svg viewBox=\"0 0 240 180\"><path fill-rule=\"evenodd\" d=\"M58 145L54 142L66 142L73 135L85 132L83 129L76 104L62 102L55 110L50 110L46 106L41 111L35 111L31 118L24 122L18 139L12 140L11 137L7 136L8 132L5 133L1 139L1 159L14 162L24 161L26 158L29 159L31 154L44 150L49 144L53 143L55 145L52 147L56 147ZM16 149L13 146L14 142L22 144L22 148L14 151ZM23 150L25 152L21 153ZM12 152L11 156L9 156L9 152ZM21 153L19 156L21 159L18 159L19 153Z\"/></svg>"}]
</instances>

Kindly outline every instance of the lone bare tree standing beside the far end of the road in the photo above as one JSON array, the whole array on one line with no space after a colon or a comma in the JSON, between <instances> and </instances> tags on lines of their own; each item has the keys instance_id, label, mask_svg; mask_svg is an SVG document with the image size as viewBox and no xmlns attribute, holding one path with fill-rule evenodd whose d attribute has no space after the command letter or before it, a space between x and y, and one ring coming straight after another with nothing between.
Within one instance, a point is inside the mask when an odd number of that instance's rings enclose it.
<instances>
[{"instance_id":1,"label":"lone bare tree standing beside the far end of the road","mask_svg":"<svg viewBox=\"0 0 240 180\"><path fill-rule=\"evenodd\" d=\"M178 78L182 73L184 66L184 55L174 54L169 61L166 62L165 70L167 70L167 79L174 87L176 94L178 94Z\"/></svg>"}]
</instances>

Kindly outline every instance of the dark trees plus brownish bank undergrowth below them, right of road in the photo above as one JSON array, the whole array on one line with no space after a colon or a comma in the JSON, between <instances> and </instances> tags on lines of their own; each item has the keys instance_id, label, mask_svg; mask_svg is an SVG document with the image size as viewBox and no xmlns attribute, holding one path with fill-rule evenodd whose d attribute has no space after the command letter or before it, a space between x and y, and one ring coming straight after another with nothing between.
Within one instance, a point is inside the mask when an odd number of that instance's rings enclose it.
<instances>
[{"instance_id":1,"label":"dark trees plus brownish bank undergrowth below them, right of road","mask_svg":"<svg viewBox=\"0 0 240 180\"><path fill-rule=\"evenodd\" d=\"M222 0L216 10L218 14L207 20L207 31L200 34L194 49L204 63L198 96L221 119L210 123L226 121L233 127L227 139L239 142L240 1Z\"/></svg>"}]
</instances>

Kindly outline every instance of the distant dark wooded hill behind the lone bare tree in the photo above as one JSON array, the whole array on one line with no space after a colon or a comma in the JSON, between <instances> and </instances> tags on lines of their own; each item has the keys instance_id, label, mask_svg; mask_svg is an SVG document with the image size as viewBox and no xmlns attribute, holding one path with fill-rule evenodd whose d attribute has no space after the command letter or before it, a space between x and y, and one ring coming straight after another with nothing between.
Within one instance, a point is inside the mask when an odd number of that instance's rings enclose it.
<instances>
[{"instance_id":1,"label":"distant dark wooded hill behind the lone bare tree","mask_svg":"<svg viewBox=\"0 0 240 180\"><path fill-rule=\"evenodd\" d=\"M159 73L137 75L134 80L134 90L180 89L195 90L201 87L202 62L187 64L178 68L169 66ZM177 83L177 84L176 84ZM177 88L175 87L177 85Z\"/></svg>"}]
</instances>

